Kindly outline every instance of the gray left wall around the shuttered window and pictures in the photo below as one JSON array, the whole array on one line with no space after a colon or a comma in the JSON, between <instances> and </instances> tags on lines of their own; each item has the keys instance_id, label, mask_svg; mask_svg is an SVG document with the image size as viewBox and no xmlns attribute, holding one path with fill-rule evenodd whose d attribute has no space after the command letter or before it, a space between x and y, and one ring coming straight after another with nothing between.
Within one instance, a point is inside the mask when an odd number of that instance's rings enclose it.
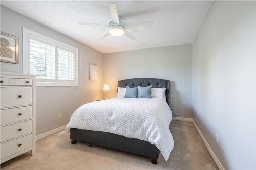
<instances>
[{"instance_id":1,"label":"gray left wall around the shuttered window and pictures","mask_svg":"<svg viewBox=\"0 0 256 170\"><path fill-rule=\"evenodd\" d=\"M80 105L102 98L103 54L70 37L1 6L1 32L19 37L19 64L0 63L1 71L23 72L23 27L46 35L79 50L78 87L36 87L36 134L68 123L73 111ZM89 81L89 63L98 65L98 81ZM57 114L61 113L61 119Z\"/></svg>"}]
</instances>

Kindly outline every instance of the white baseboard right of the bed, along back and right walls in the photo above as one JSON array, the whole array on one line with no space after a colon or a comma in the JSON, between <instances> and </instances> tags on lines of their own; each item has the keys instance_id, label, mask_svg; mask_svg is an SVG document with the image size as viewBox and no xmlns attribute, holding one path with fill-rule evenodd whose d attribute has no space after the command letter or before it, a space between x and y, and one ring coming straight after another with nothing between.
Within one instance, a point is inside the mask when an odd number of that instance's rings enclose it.
<instances>
[{"instance_id":1,"label":"white baseboard right of the bed, along back and right walls","mask_svg":"<svg viewBox=\"0 0 256 170\"><path fill-rule=\"evenodd\" d=\"M212 157L212 159L214 160L215 164L217 165L217 167L219 168L219 170L225 170L224 167L222 166L221 162L219 161L219 159L217 158L217 156L215 155L214 151L212 151L212 149L210 148L210 145L208 144L208 142L206 141L206 139L204 138L202 132L199 130L197 124L194 122L193 118L184 118L184 117L173 117L173 120L178 120L178 121L185 121L185 122L192 122L193 125L195 126L199 136L201 137L201 139L204 142L204 145L206 147L206 149L208 150L208 152L210 153L210 156Z\"/></svg>"}]
</instances>

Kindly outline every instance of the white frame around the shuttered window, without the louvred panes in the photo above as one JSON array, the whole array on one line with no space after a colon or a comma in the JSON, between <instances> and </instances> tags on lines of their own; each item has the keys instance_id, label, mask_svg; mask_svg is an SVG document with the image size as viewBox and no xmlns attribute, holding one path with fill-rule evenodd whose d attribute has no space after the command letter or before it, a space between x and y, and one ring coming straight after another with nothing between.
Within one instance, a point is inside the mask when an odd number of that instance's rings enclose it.
<instances>
[{"instance_id":1,"label":"white frame around the shuttered window, without the louvred panes","mask_svg":"<svg viewBox=\"0 0 256 170\"><path fill-rule=\"evenodd\" d=\"M32 38L33 37L33 38ZM23 28L23 73L29 74L29 40L38 39L45 41L47 44L53 44L55 47L55 79L36 79L36 86L78 86L78 49L68 44L62 43L45 35L36 33L29 29ZM75 55L75 80L58 80L58 48Z\"/></svg>"}]
</instances>

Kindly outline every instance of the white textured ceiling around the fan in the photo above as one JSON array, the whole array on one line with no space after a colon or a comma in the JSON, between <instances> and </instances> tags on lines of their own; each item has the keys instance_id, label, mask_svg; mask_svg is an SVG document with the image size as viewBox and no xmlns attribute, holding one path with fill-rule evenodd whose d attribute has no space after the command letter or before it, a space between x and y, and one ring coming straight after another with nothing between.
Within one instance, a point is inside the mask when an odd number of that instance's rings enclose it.
<instances>
[{"instance_id":1,"label":"white textured ceiling around the fan","mask_svg":"<svg viewBox=\"0 0 256 170\"><path fill-rule=\"evenodd\" d=\"M212 1L111 1L124 22L153 20L154 25L129 29L137 39L109 36L108 28L77 25L78 21L108 25L109 1L1 1L23 14L102 53L192 43Z\"/></svg>"}]
</instances>

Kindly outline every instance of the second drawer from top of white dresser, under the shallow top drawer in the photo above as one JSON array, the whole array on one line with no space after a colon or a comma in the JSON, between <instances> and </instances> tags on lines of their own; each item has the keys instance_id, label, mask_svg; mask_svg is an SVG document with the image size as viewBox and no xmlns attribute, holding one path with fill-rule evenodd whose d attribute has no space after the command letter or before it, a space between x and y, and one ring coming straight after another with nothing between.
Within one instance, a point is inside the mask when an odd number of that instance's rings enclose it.
<instances>
[{"instance_id":1,"label":"second drawer from top of white dresser, under the shallow top drawer","mask_svg":"<svg viewBox=\"0 0 256 170\"><path fill-rule=\"evenodd\" d=\"M32 87L1 87L1 108L32 104Z\"/></svg>"}]
</instances>

